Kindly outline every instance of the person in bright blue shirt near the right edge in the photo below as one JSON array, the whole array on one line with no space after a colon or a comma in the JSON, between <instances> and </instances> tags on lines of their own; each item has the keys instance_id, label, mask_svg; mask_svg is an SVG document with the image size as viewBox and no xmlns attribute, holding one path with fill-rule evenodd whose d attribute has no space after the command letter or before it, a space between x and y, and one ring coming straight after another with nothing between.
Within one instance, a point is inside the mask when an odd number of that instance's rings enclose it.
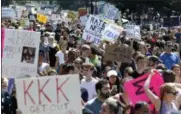
<instances>
[{"instance_id":1,"label":"person in bright blue shirt near the right edge","mask_svg":"<svg viewBox=\"0 0 181 114\"><path fill-rule=\"evenodd\" d=\"M174 64L180 63L180 57L178 54L172 52L173 44L171 41L166 42L165 52L160 55L160 60L163 61L167 69L171 69Z\"/></svg>"}]
</instances>

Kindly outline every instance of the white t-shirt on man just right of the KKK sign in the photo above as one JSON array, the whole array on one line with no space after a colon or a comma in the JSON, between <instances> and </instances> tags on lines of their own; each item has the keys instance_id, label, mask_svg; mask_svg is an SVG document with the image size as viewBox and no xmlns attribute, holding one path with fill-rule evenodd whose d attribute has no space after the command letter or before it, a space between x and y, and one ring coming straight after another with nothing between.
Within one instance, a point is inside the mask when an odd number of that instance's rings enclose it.
<instances>
[{"instance_id":1,"label":"white t-shirt on man just right of the KKK sign","mask_svg":"<svg viewBox=\"0 0 181 114\"><path fill-rule=\"evenodd\" d=\"M88 91L88 100L94 98L96 93L95 85L98 81L95 78L92 78L90 82L86 82L85 79L81 80L81 87L85 88Z\"/></svg>"}]
</instances>

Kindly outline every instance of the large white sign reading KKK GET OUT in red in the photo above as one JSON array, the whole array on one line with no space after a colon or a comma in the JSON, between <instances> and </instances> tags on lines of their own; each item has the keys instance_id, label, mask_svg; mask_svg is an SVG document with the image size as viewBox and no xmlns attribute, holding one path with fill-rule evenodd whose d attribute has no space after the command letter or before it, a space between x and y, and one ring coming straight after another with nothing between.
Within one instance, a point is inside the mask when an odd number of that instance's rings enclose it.
<instances>
[{"instance_id":1,"label":"large white sign reading KKK GET OUT in red","mask_svg":"<svg viewBox=\"0 0 181 114\"><path fill-rule=\"evenodd\" d=\"M23 114L82 114L78 75L16 79Z\"/></svg>"}]
</instances>

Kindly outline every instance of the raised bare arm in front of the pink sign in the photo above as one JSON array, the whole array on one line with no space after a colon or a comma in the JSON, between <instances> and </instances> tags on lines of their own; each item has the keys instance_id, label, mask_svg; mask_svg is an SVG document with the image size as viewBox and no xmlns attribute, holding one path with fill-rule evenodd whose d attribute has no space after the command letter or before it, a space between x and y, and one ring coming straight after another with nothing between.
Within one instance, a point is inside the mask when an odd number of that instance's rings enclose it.
<instances>
[{"instance_id":1,"label":"raised bare arm in front of the pink sign","mask_svg":"<svg viewBox=\"0 0 181 114\"><path fill-rule=\"evenodd\" d=\"M156 96L150 89L149 89L149 86L150 86L150 81L151 81L151 78L152 76L154 75L153 71L150 73L150 75L148 76L147 80L145 81L145 84L144 84L144 90L145 90L145 93L146 95L148 96L148 98L150 99L150 101L154 104L155 106L155 109L157 111L160 110L160 106L161 106L161 101L160 101L160 98L158 96Z\"/></svg>"}]
</instances>

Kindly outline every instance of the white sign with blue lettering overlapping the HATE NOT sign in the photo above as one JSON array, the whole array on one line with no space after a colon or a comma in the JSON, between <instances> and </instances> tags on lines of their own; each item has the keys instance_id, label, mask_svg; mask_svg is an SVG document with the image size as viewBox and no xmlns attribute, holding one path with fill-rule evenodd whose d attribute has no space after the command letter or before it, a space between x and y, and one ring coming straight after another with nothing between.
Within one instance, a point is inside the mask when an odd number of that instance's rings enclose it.
<instances>
[{"instance_id":1,"label":"white sign with blue lettering overlapping the HATE NOT sign","mask_svg":"<svg viewBox=\"0 0 181 114\"><path fill-rule=\"evenodd\" d=\"M109 24L102 33L102 40L115 42L124 29L115 24Z\"/></svg>"}]
</instances>

